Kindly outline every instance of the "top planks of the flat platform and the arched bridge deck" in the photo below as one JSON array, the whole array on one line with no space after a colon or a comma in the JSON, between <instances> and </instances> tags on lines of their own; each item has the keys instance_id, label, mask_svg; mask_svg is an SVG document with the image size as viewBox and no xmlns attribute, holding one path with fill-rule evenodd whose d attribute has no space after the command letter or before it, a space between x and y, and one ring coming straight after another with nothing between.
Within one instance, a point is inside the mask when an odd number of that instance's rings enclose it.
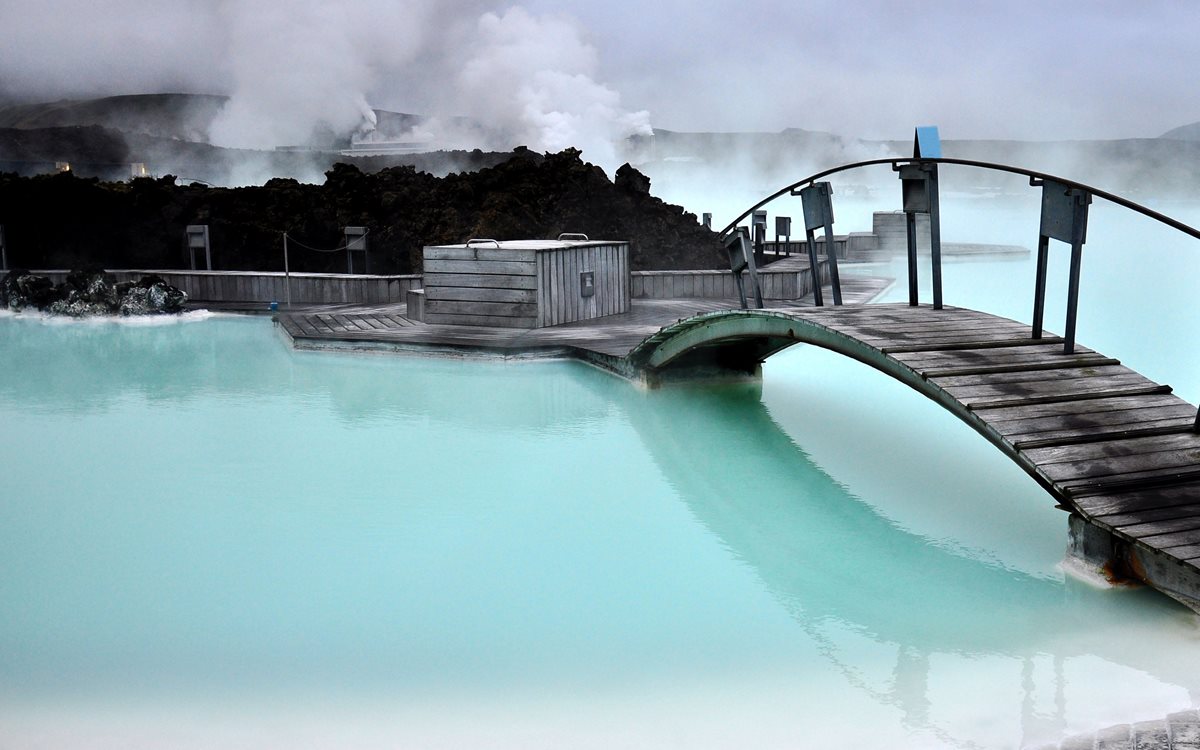
<instances>
[{"instance_id":1,"label":"top planks of the flat platform and the arched bridge deck","mask_svg":"<svg viewBox=\"0 0 1200 750\"><path fill-rule=\"evenodd\" d=\"M844 293L847 289L844 282ZM878 286L858 282L870 296ZM851 292L847 299L854 299ZM733 300L635 300L630 312L542 329L425 325L403 305L330 306L278 319L296 341L572 349L620 359L662 326ZM1092 349L970 310L907 305L775 308L884 353L967 407L1057 500L1138 544L1200 569L1200 436L1195 407ZM977 427L978 428L978 427Z\"/></svg>"}]
</instances>

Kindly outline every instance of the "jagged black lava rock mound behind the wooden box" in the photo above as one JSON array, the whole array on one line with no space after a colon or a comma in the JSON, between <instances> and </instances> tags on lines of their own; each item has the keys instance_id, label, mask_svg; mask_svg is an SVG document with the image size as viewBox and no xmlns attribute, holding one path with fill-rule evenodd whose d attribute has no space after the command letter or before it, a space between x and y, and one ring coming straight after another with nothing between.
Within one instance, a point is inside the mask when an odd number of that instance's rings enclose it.
<instances>
[{"instance_id":1,"label":"jagged black lava rock mound behind the wooden box","mask_svg":"<svg viewBox=\"0 0 1200 750\"><path fill-rule=\"evenodd\" d=\"M654 198L626 166L610 180L572 149L518 150L494 167L438 178L413 167L365 173L336 164L322 185L274 179L258 187L178 185L175 178L101 182L70 173L0 175L0 224L11 268L187 268L184 229L209 224L214 268L282 270L282 234L296 271L344 271L332 248L346 226L367 227L370 270L420 271L424 245L469 238L554 238L582 232L630 241L634 269L720 268L716 235Z\"/></svg>"}]
</instances>

